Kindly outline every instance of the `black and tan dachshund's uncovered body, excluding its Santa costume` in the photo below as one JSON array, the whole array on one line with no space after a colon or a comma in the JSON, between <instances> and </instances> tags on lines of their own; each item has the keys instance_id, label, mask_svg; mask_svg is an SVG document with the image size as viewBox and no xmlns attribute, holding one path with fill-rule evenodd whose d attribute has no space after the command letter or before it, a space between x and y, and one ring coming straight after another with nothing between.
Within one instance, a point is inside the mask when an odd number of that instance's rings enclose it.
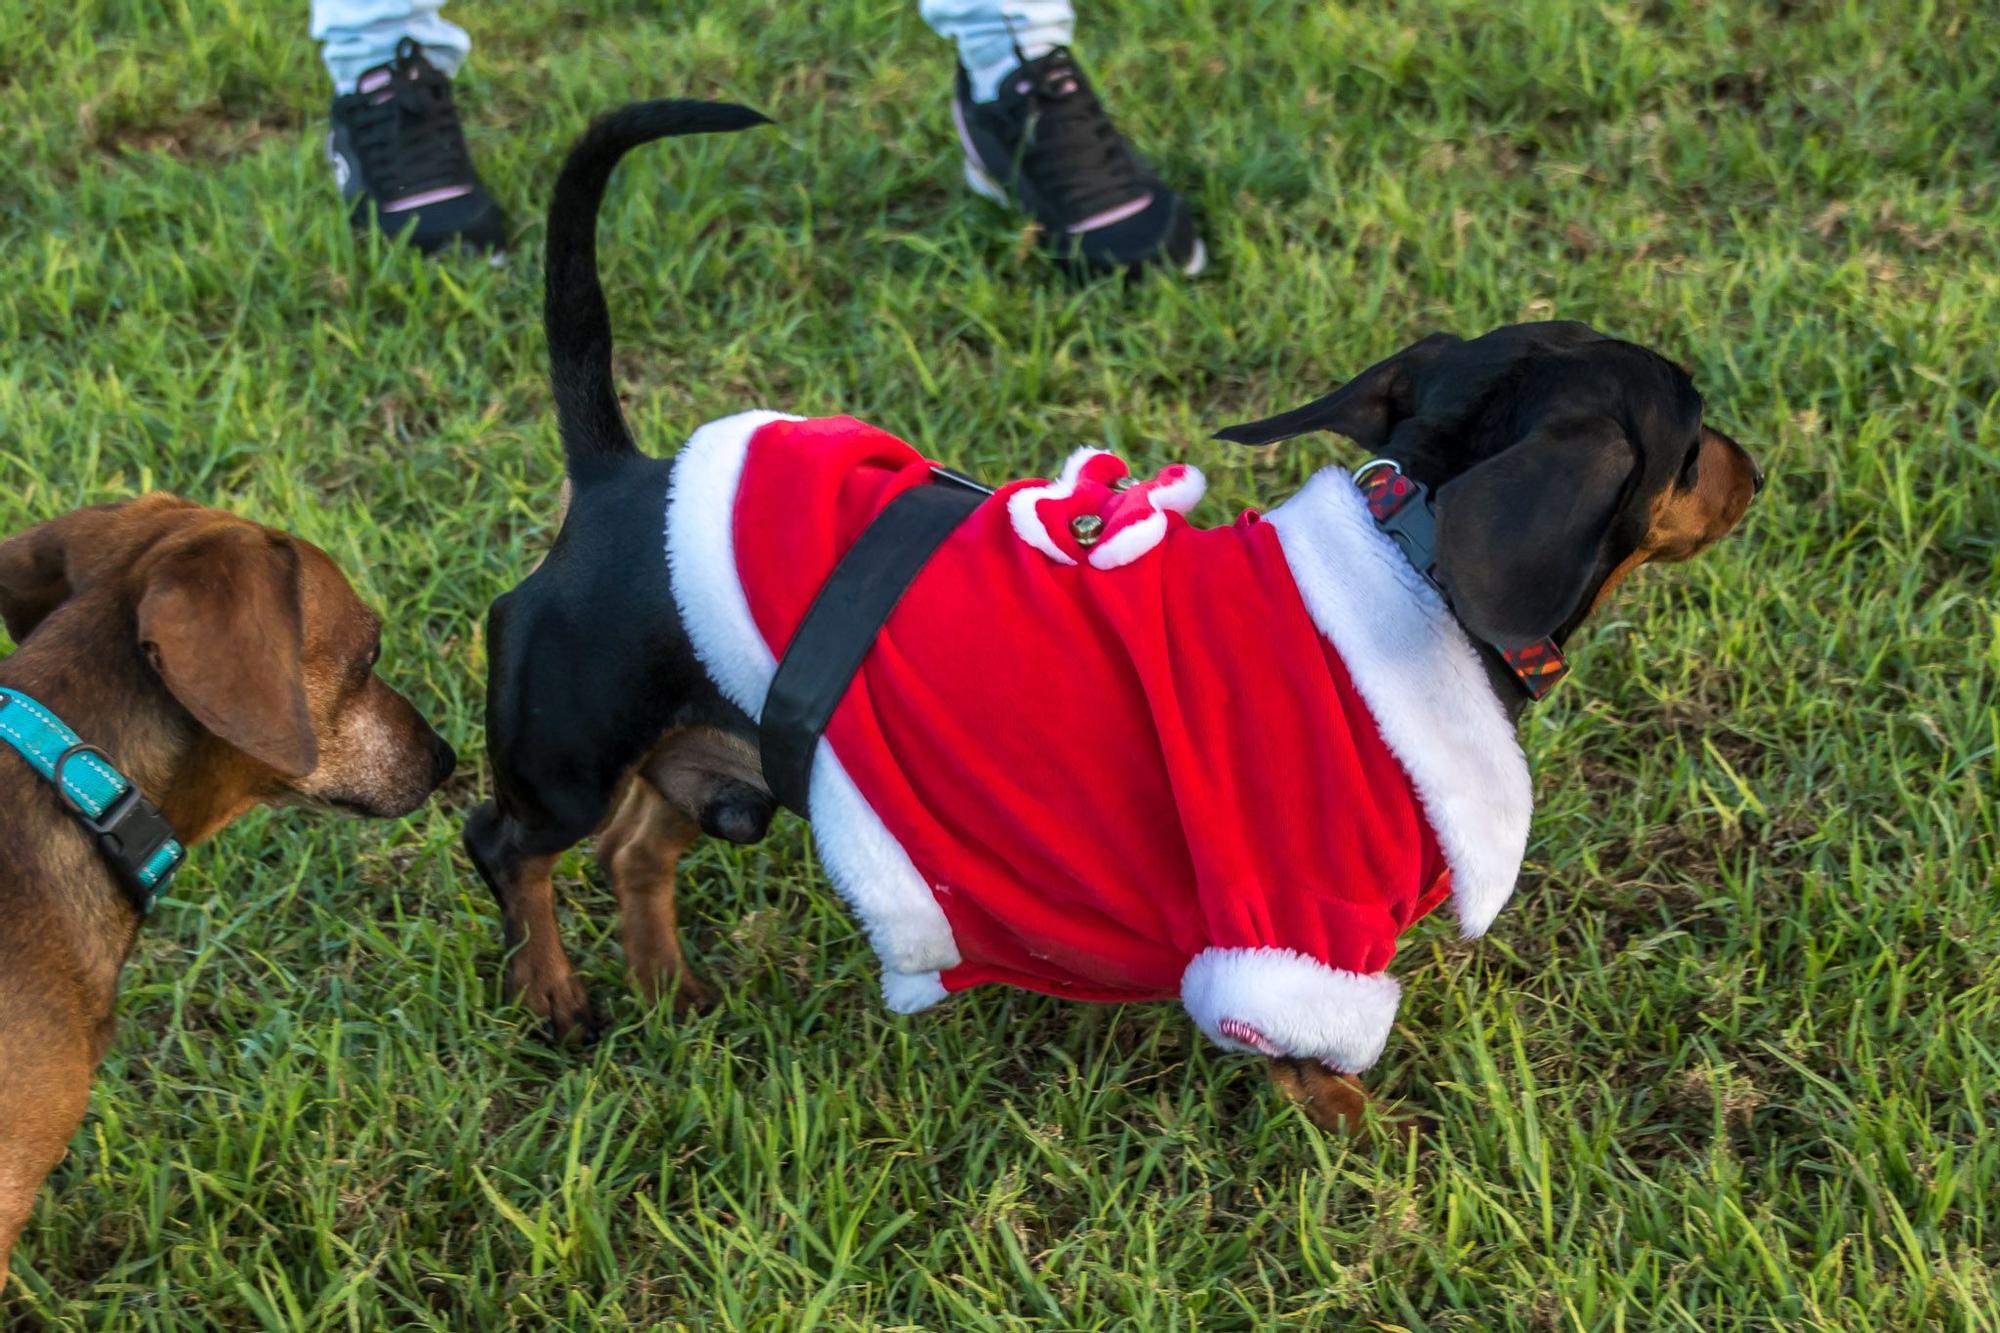
<instances>
[{"instance_id":1,"label":"black and tan dachshund's uncovered body, excluding its Santa costume","mask_svg":"<svg viewBox=\"0 0 2000 1333\"><path fill-rule=\"evenodd\" d=\"M494 799L470 817L466 847L500 901L508 993L558 1037L588 1035L592 1007L556 933L556 857L600 837L634 985L646 997L700 1003L708 989L688 973L678 943L676 863L700 833L762 839L776 811L758 763L760 703L740 689L732 697L698 650L714 626L684 610L694 602L670 582L672 532L662 542L662 526L726 522L726 514L692 512L702 496L674 480L674 460L640 454L626 430L594 238L606 182L626 150L762 122L722 104L622 108L574 146L550 208L546 324L570 502L546 560L490 612ZM1490 691L1482 707L1518 763L1512 723L1526 695L1508 652L1562 644L1634 568L1684 560L1730 532L1760 488L1750 454L1704 424L1702 410L1690 376L1660 354L1584 324L1546 322L1478 338L1428 336L1316 402L1222 438L1270 444L1332 430L1434 498L1428 578L1404 568L1410 578L1396 586L1416 588L1410 600L1454 624L1454 650L1468 679ZM1326 488L1354 492L1338 472L1322 476ZM670 506L678 506L672 516ZM978 658L964 669L1004 666ZM1396 662L1374 669L1394 675ZM1416 673L1412 662L1422 685ZM1020 731L1036 721L996 725ZM1254 755L1258 745L1244 737L1242 749ZM1520 815L1524 839L1526 809ZM1338 823L1340 813L1312 817ZM816 833L824 847L826 831ZM1194 997L1188 1005L1198 1009ZM1354 1123L1364 1097L1350 1075L1360 1061L1304 1059L1310 1047L1222 1023L1224 1037L1234 1033L1224 1045L1270 1055L1278 1085L1318 1123ZM1204 1031L1218 1035L1208 1023Z\"/></svg>"}]
</instances>

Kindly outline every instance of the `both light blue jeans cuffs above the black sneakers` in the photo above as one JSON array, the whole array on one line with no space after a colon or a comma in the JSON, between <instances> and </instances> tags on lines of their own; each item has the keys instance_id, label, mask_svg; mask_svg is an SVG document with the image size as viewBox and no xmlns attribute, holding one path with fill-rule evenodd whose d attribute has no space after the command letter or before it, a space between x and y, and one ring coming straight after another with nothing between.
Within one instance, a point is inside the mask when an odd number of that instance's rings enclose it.
<instances>
[{"instance_id":1,"label":"both light blue jeans cuffs above the black sneakers","mask_svg":"<svg viewBox=\"0 0 2000 1333\"><path fill-rule=\"evenodd\" d=\"M396 58L396 42L414 38L446 74L472 50L458 24L438 18L444 0L312 0L312 38L334 76L334 92L354 92L354 80ZM920 0L924 22L958 44L958 62L972 78L972 96L992 100L1000 80L1050 46L1068 46L1076 26L1070 0Z\"/></svg>"}]
</instances>

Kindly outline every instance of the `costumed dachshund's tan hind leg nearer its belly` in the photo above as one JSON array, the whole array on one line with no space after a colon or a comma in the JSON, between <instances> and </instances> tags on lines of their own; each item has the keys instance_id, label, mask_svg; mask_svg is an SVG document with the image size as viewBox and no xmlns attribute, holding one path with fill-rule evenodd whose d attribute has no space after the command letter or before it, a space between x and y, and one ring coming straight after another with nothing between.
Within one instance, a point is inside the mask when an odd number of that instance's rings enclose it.
<instances>
[{"instance_id":1,"label":"costumed dachshund's tan hind leg nearer its belly","mask_svg":"<svg viewBox=\"0 0 2000 1333\"><path fill-rule=\"evenodd\" d=\"M676 1011L708 1009L718 999L714 987L688 971L674 915L674 869L700 835L694 819L642 779L626 783L618 811L598 835L598 863L618 895L632 985L650 1003L672 995Z\"/></svg>"}]
</instances>

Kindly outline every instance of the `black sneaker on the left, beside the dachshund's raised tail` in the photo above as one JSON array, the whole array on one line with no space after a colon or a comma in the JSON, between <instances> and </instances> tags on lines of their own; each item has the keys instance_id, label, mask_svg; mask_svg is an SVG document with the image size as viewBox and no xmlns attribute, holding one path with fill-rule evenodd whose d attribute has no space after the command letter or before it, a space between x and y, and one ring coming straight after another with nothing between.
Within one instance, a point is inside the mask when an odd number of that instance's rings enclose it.
<instances>
[{"instance_id":1,"label":"black sneaker on the left, beside the dachshund's raised tail","mask_svg":"<svg viewBox=\"0 0 2000 1333\"><path fill-rule=\"evenodd\" d=\"M334 98L326 160L354 226L374 218L390 234L408 228L424 254L506 246L506 216L472 170L452 80L410 38L396 44L396 60Z\"/></svg>"}]
</instances>

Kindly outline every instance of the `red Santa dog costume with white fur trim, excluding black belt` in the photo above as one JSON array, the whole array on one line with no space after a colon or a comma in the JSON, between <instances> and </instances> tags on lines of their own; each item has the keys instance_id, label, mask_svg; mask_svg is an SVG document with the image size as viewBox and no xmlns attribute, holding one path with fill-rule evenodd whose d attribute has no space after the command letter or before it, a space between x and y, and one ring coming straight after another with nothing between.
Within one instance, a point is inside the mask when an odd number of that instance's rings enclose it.
<instances>
[{"instance_id":1,"label":"red Santa dog costume with white fur trim, excluding black belt","mask_svg":"<svg viewBox=\"0 0 2000 1333\"><path fill-rule=\"evenodd\" d=\"M696 654L756 719L842 552L930 464L846 416L744 412L674 462ZM924 564L812 761L810 819L898 1013L1008 983L1178 997L1228 1049L1360 1071L1396 937L1512 893L1528 771L1472 642L1340 470L1226 528L1194 468L1082 450Z\"/></svg>"}]
</instances>

